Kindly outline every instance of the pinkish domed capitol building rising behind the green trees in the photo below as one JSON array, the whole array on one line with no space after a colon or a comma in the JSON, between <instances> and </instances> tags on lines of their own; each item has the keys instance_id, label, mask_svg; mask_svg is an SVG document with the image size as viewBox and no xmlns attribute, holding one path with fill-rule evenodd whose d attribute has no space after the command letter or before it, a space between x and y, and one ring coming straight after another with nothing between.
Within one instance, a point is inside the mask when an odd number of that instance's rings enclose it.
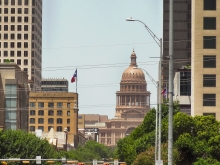
<instances>
[{"instance_id":1,"label":"pinkish domed capitol building rising behind the green trees","mask_svg":"<svg viewBox=\"0 0 220 165\"><path fill-rule=\"evenodd\" d=\"M134 51L130 58L130 66L122 74L120 91L116 92L115 118L99 128L99 143L106 146L115 146L119 139L129 135L150 110L150 92L143 71L137 68Z\"/></svg>"}]
</instances>

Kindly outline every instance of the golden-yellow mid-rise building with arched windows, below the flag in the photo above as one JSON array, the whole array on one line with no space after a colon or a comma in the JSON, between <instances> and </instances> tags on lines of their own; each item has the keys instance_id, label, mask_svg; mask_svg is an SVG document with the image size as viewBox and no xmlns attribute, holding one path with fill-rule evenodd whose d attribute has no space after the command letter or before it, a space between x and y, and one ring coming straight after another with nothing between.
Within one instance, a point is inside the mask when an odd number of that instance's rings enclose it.
<instances>
[{"instance_id":1,"label":"golden-yellow mid-rise building with arched windows, below the flag","mask_svg":"<svg viewBox=\"0 0 220 165\"><path fill-rule=\"evenodd\" d=\"M41 129L49 132L64 132L67 128L67 143L78 144L78 94L73 92L30 92L29 131Z\"/></svg>"}]
</instances>

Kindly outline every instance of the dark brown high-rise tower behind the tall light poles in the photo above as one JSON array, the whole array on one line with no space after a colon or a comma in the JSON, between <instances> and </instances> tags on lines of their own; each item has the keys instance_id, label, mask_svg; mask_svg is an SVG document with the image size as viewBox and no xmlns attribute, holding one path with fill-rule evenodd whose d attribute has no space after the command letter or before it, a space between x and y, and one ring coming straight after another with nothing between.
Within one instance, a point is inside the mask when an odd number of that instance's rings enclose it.
<instances>
[{"instance_id":1,"label":"dark brown high-rise tower behind the tall light poles","mask_svg":"<svg viewBox=\"0 0 220 165\"><path fill-rule=\"evenodd\" d=\"M169 81L169 0L163 1L163 86ZM191 0L173 2L174 73L191 65Z\"/></svg>"}]
</instances>

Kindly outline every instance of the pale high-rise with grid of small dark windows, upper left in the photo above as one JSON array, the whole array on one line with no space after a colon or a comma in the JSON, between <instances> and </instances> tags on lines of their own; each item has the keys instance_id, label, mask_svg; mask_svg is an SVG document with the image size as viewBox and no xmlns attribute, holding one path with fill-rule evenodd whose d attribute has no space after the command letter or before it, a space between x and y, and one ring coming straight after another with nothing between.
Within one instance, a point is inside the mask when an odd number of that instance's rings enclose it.
<instances>
[{"instance_id":1,"label":"pale high-rise with grid of small dark windows, upper left","mask_svg":"<svg viewBox=\"0 0 220 165\"><path fill-rule=\"evenodd\" d=\"M0 62L28 73L32 90L41 85L42 0L0 0Z\"/></svg>"}]
</instances>

